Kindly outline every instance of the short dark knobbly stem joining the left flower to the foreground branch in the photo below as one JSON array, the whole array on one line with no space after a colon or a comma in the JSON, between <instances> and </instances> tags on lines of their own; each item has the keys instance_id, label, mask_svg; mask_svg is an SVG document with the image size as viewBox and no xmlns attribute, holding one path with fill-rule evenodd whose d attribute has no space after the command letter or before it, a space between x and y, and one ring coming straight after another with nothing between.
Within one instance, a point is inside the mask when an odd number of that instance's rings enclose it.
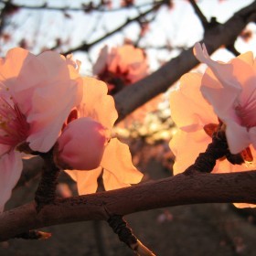
<instances>
[{"instance_id":1,"label":"short dark knobbly stem joining the left flower to the foreground branch","mask_svg":"<svg viewBox=\"0 0 256 256\"><path fill-rule=\"evenodd\" d=\"M54 201L56 198L56 187L58 185L58 177L60 169L53 160L52 150L46 154L40 154L44 159L45 165L42 177L37 187L35 201L37 203L37 211Z\"/></svg>"}]
</instances>

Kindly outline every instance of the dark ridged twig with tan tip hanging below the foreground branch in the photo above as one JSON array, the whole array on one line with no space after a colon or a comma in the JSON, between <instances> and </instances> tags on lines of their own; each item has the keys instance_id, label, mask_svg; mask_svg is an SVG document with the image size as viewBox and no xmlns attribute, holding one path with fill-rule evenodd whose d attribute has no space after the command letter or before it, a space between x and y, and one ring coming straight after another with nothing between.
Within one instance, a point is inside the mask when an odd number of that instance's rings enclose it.
<instances>
[{"instance_id":1,"label":"dark ridged twig with tan tip hanging below the foreground branch","mask_svg":"<svg viewBox=\"0 0 256 256\"><path fill-rule=\"evenodd\" d=\"M154 256L155 253L150 251L144 244L133 235L133 230L130 229L127 222L121 215L112 215L108 219L108 223L113 231L118 235L119 240L126 243L136 255Z\"/></svg>"}]
</instances>

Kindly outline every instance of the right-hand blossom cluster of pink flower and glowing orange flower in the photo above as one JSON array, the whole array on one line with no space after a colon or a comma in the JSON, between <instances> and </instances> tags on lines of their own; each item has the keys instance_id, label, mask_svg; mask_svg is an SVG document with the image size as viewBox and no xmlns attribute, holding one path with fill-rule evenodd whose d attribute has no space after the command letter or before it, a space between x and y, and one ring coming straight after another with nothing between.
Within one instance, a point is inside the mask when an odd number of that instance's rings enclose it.
<instances>
[{"instance_id":1,"label":"right-hand blossom cluster of pink flower and glowing orange flower","mask_svg":"<svg viewBox=\"0 0 256 256\"><path fill-rule=\"evenodd\" d=\"M172 118L178 131L170 147L176 155L174 173L193 165L211 143L219 122L224 123L231 154L240 154L242 165L219 159L214 173L255 169L256 157L256 61L251 52L229 63L209 58L207 49L196 44L196 58L208 65L204 74L187 73L170 97ZM238 207L255 205L236 204Z\"/></svg>"}]
</instances>

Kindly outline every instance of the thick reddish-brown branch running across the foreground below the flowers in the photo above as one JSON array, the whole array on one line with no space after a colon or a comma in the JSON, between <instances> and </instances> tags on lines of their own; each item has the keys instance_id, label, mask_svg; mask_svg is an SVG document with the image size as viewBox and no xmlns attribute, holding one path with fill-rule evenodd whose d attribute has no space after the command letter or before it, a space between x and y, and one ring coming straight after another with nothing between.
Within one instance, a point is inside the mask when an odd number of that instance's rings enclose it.
<instances>
[{"instance_id":1,"label":"thick reddish-brown branch running across the foreground below the flowers","mask_svg":"<svg viewBox=\"0 0 256 256\"><path fill-rule=\"evenodd\" d=\"M148 196L150 195L150 197ZM231 174L180 174L108 192L58 199L37 213L34 202L0 215L0 240L28 229L109 219L110 215L197 203L256 203L256 171ZM127 203L129 202L129 203Z\"/></svg>"}]
</instances>

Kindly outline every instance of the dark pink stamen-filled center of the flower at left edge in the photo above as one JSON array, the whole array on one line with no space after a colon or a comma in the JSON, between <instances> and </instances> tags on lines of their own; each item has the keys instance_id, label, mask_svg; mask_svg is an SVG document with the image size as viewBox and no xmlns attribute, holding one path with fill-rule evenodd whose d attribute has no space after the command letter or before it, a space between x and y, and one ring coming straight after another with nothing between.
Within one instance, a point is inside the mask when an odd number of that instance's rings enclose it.
<instances>
[{"instance_id":1,"label":"dark pink stamen-filled center of the flower at left edge","mask_svg":"<svg viewBox=\"0 0 256 256\"><path fill-rule=\"evenodd\" d=\"M16 147L26 141L28 131L29 123L16 102L0 96L0 144Z\"/></svg>"}]
</instances>

